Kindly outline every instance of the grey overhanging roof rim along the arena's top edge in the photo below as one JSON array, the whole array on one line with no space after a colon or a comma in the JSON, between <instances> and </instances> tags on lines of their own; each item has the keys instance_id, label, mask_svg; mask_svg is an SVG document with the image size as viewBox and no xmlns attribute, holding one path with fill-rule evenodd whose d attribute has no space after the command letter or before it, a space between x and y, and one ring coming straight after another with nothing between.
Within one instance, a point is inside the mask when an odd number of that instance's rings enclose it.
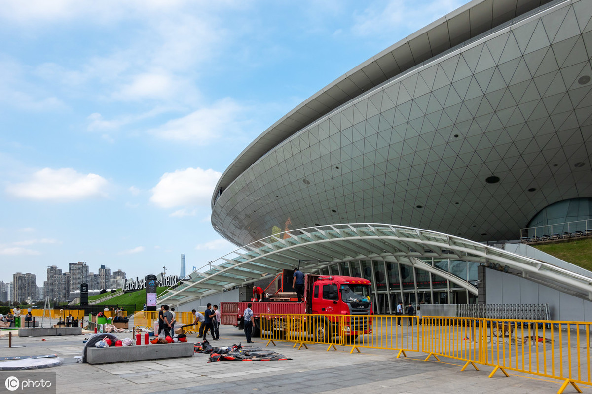
<instances>
[{"instance_id":1,"label":"grey overhanging roof rim along the arena's top edge","mask_svg":"<svg viewBox=\"0 0 592 394\"><path fill-rule=\"evenodd\" d=\"M220 189L226 189L266 152L311 122L367 90L491 28L516 17L525 17L529 11L549 1L473 0L369 58L308 97L249 144L220 177L212 197L212 207Z\"/></svg>"}]
</instances>

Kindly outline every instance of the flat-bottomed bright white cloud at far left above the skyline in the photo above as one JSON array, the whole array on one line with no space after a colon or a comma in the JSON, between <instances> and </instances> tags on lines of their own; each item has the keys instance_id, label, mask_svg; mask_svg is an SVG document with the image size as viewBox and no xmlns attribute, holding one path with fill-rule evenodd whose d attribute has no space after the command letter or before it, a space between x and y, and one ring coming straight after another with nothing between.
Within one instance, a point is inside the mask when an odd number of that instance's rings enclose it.
<instances>
[{"instance_id":1,"label":"flat-bottomed bright white cloud at far left above the skyline","mask_svg":"<svg viewBox=\"0 0 592 394\"><path fill-rule=\"evenodd\" d=\"M44 168L24 183L9 184L7 192L30 200L73 201L107 197L108 182L96 174L80 174L72 168Z\"/></svg>"}]
</instances>

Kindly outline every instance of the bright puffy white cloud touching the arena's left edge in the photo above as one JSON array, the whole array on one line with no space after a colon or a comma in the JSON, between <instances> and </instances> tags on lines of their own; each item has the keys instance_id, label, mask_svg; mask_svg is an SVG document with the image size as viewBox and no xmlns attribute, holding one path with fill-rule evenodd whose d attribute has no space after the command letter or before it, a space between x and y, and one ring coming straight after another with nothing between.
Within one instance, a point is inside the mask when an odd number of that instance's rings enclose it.
<instances>
[{"instance_id":1,"label":"bright puffy white cloud touching the arena's left edge","mask_svg":"<svg viewBox=\"0 0 592 394\"><path fill-rule=\"evenodd\" d=\"M162 208L208 206L221 175L201 168L166 172L152 188L150 201Z\"/></svg>"}]
</instances>

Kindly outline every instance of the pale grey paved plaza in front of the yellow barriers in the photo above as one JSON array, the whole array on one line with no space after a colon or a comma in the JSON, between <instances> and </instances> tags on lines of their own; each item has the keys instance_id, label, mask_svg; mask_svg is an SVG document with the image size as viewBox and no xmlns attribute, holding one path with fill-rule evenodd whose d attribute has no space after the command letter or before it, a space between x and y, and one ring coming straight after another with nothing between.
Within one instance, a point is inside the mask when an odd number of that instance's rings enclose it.
<instances>
[{"instance_id":1,"label":"pale grey paved plaza in front of the yellow barriers","mask_svg":"<svg viewBox=\"0 0 592 394\"><path fill-rule=\"evenodd\" d=\"M132 333L118 334L120 338ZM110 392L189 394L196 392L237 393L555 393L559 380L545 379L521 373L510 377L497 373L488 378L493 367L468 367L461 372L464 362L440 358L423 362L424 353L407 353L396 358L392 350L361 349L350 354L350 347L337 346L326 351L326 345L308 345L308 349L294 349L292 343L270 344L278 353L292 360L269 362L208 363L207 354L195 353L183 359L165 359L92 366L78 364L73 358L82 352L85 336L19 338L13 336L7 349L5 333L0 339L0 356L53 354L63 357L62 366L40 372L56 373L59 393L80 393L88 390ZM88 335L86 335L88 337ZM195 336L189 338L195 341ZM252 347L265 347L266 341L255 338ZM220 340L214 346L242 343L247 347L242 331L231 326L220 329ZM158 346L158 345L154 345ZM587 386L581 387L584 390ZM566 393L575 392L569 386Z\"/></svg>"}]
</instances>

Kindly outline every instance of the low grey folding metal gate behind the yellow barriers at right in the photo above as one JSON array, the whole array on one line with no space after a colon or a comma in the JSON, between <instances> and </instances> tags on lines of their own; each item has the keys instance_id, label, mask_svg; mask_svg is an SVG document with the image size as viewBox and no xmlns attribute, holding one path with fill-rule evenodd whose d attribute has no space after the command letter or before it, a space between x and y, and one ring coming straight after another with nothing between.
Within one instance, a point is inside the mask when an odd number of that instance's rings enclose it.
<instances>
[{"instance_id":1,"label":"low grey folding metal gate behind the yellow barriers at right","mask_svg":"<svg viewBox=\"0 0 592 394\"><path fill-rule=\"evenodd\" d=\"M422 316L550 320L548 304L420 305Z\"/></svg>"}]
</instances>

